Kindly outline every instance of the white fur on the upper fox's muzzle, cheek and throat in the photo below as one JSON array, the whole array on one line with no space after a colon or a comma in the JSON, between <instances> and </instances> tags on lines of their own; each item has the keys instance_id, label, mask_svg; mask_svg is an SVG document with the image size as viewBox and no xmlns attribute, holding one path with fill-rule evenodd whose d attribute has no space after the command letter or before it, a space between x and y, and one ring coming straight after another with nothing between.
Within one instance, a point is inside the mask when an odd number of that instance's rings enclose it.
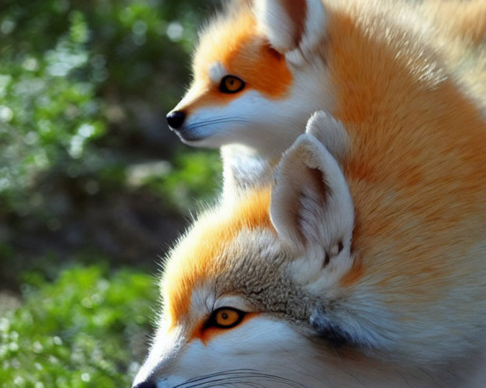
<instances>
[{"instance_id":1,"label":"white fur on the upper fox's muzzle, cheek and throat","mask_svg":"<svg viewBox=\"0 0 486 388\"><path fill-rule=\"evenodd\" d=\"M325 67L318 63L308 66L295 69L292 89L284 99L271 99L255 90L243 91L241 97L227 105L192 112L176 132L191 146L219 148L242 144L264 157L279 156L303 133L312 113L332 108ZM196 85L174 110L183 109L198 93Z\"/></svg>"}]
</instances>

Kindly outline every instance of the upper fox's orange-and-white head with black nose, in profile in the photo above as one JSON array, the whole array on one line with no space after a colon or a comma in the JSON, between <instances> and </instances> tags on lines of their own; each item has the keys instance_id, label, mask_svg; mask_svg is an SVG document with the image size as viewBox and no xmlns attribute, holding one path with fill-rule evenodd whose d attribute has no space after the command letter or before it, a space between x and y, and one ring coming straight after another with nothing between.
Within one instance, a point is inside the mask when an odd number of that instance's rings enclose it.
<instances>
[{"instance_id":1,"label":"upper fox's orange-and-white head with black nose, in profile","mask_svg":"<svg viewBox=\"0 0 486 388\"><path fill-rule=\"evenodd\" d=\"M243 144L279 156L331 105L320 0L235 1L200 35L193 81L167 115L191 146Z\"/></svg>"}]
</instances>

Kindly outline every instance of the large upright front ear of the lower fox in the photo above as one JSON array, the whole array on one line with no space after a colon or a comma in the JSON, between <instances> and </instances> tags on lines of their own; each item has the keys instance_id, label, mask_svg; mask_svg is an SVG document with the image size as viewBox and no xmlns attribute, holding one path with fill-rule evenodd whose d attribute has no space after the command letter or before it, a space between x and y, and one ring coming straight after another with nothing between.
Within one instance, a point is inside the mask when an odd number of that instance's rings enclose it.
<instances>
[{"instance_id":1,"label":"large upright front ear of the lower fox","mask_svg":"<svg viewBox=\"0 0 486 388\"><path fill-rule=\"evenodd\" d=\"M298 249L350 250L351 194L337 161L313 135L300 135L282 156L270 215L280 238Z\"/></svg>"}]
</instances>

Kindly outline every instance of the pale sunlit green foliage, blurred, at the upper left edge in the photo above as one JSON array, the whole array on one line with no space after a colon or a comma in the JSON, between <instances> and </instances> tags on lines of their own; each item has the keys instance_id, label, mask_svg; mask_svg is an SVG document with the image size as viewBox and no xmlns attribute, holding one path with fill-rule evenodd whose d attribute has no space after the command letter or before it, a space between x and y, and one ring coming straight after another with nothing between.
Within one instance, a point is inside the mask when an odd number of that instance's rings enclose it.
<instances>
[{"instance_id":1,"label":"pale sunlit green foliage, blurred, at the upper left edge","mask_svg":"<svg viewBox=\"0 0 486 388\"><path fill-rule=\"evenodd\" d=\"M73 74L90 60L85 16L71 11L65 31L47 35L51 46L45 47L31 29L58 15L32 15L29 24L24 18L39 4L31 6L12 5L0 26L6 43L0 70L0 195L21 214L35 202L29 189L40 174L52 168L72 174L87 143L105 133L96 82Z\"/></svg>"}]
</instances>

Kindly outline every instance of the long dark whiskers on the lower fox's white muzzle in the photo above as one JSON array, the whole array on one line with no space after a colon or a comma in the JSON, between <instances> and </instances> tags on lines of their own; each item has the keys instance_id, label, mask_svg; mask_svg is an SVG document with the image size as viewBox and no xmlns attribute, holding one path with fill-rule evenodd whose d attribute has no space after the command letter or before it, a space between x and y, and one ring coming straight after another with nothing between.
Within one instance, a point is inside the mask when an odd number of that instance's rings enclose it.
<instances>
[{"instance_id":1,"label":"long dark whiskers on the lower fox's white muzzle","mask_svg":"<svg viewBox=\"0 0 486 388\"><path fill-rule=\"evenodd\" d=\"M250 381L248 381L248 379L250 379ZM251 381L252 379L254 379L254 381ZM231 385L243 384L249 387L257 386L257 387L264 388L265 386L260 384L259 379L267 380L270 382L278 382L293 388L309 388L294 380L287 379L285 377L280 377L274 374L259 372L254 369L233 369L229 371L211 373L200 377L194 377L172 388L193 388L193 387L209 388L209 387L217 387L222 385L225 386L226 384L231 384Z\"/></svg>"}]
</instances>

